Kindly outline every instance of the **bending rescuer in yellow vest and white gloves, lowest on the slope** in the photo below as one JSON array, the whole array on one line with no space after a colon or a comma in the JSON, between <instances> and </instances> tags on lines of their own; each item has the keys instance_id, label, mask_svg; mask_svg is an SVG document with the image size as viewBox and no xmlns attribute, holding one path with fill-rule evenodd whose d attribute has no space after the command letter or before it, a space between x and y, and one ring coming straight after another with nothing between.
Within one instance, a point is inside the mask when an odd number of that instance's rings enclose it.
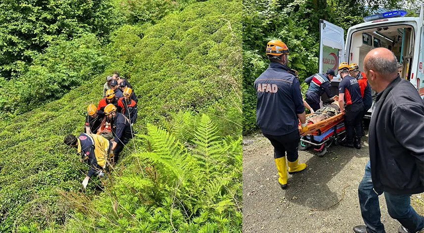
<instances>
[{"instance_id":1,"label":"bending rescuer in yellow vest and white gloves, lowest on the slope","mask_svg":"<svg viewBox=\"0 0 424 233\"><path fill-rule=\"evenodd\" d=\"M103 169L106 168L107 155L110 152L111 143L105 138L96 134L82 133L78 138L74 135L67 135L63 141L71 147L77 147L81 153L82 161L90 166L82 185L87 187L93 175L99 178L104 176Z\"/></svg>"}]
</instances>

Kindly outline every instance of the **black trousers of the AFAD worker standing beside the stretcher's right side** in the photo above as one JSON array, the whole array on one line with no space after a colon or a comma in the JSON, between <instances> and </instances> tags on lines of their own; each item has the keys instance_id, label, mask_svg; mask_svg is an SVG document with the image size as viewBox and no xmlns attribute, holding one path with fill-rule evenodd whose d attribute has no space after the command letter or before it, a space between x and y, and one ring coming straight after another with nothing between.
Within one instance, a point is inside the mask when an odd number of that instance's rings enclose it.
<instances>
[{"instance_id":1,"label":"black trousers of the AFAD worker standing beside the stretcher's right side","mask_svg":"<svg viewBox=\"0 0 424 233\"><path fill-rule=\"evenodd\" d=\"M362 114L364 112L364 104L352 103L344 107L344 126L346 129L347 143L353 143L353 130L356 131L356 139L362 138Z\"/></svg>"}]
</instances>

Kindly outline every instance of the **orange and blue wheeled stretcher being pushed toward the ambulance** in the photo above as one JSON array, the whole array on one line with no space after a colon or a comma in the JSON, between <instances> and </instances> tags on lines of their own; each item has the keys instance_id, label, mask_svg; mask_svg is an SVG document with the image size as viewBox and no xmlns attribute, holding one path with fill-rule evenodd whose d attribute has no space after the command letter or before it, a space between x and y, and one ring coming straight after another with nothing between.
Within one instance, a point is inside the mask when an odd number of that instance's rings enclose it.
<instances>
[{"instance_id":1,"label":"orange and blue wheeled stretcher being pushed toward the ambulance","mask_svg":"<svg viewBox=\"0 0 424 233\"><path fill-rule=\"evenodd\" d=\"M344 140L346 134L343 120L344 112L308 125L308 131L301 134L299 149L307 150L313 146L319 157L324 156L332 142L338 145ZM301 127L299 126L300 129Z\"/></svg>"}]
</instances>

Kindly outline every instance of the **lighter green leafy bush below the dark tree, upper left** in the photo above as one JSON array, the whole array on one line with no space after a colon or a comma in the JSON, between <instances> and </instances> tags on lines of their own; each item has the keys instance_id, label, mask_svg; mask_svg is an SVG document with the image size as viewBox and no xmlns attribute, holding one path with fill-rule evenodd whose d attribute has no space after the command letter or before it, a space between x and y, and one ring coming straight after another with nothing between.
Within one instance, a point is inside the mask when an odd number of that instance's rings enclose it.
<instances>
[{"instance_id":1,"label":"lighter green leafy bush below the dark tree, upper left","mask_svg":"<svg viewBox=\"0 0 424 233\"><path fill-rule=\"evenodd\" d=\"M107 63L94 34L55 41L19 78L0 82L0 107L9 114L39 107L102 73Z\"/></svg>"}]
</instances>

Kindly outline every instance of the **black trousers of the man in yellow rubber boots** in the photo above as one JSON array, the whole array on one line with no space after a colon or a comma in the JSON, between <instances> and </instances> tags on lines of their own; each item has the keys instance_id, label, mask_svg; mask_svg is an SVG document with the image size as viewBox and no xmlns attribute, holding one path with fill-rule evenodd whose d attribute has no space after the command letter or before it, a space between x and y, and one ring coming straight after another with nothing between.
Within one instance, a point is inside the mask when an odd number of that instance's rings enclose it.
<instances>
[{"instance_id":1,"label":"black trousers of the man in yellow rubber boots","mask_svg":"<svg viewBox=\"0 0 424 233\"><path fill-rule=\"evenodd\" d=\"M273 136L268 134L263 135L269 139L271 144L274 146L275 159L284 157L287 152L287 160L289 162L297 160L299 157L297 154L297 147L299 146L300 141L300 134L298 130L282 136Z\"/></svg>"}]
</instances>

